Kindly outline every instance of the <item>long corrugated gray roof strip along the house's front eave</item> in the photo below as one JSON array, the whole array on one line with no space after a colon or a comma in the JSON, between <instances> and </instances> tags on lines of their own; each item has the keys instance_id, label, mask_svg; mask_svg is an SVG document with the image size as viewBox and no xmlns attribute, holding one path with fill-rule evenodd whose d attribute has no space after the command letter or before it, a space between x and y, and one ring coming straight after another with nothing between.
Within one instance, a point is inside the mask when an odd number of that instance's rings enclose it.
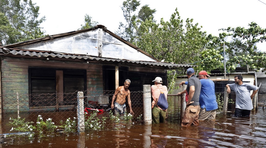
<instances>
[{"instance_id":1,"label":"long corrugated gray roof strip along the house's front eave","mask_svg":"<svg viewBox=\"0 0 266 148\"><path fill-rule=\"evenodd\" d=\"M92 60L92 61L106 61L106 62L121 62L121 63L131 63L131 64L141 64L141 65L150 65L157 67L164 67L167 69L180 69L180 68L189 68L194 67L195 65L184 65L184 64L173 64L165 62L147 62L147 61L131 61L124 59L112 59L112 58L102 58L88 55L74 55L66 53L57 53L52 51L32 51L24 49L14 49L14 48L4 48L0 47L0 54L5 55L22 55L30 57L53 57L53 58L66 58L66 59L80 59L80 60Z\"/></svg>"}]
</instances>

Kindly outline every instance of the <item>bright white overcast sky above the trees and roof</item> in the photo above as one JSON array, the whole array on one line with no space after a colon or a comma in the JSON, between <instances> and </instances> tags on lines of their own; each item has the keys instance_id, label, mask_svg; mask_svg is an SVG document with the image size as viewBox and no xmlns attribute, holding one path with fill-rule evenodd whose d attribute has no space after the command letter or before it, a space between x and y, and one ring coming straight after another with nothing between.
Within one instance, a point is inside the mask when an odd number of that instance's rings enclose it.
<instances>
[{"instance_id":1,"label":"bright white overcast sky above the trees and roof","mask_svg":"<svg viewBox=\"0 0 266 148\"><path fill-rule=\"evenodd\" d=\"M49 35L78 30L84 24L85 14L114 33L118 30L119 22L124 22L121 9L123 1L32 0L40 6L40 16L46 17L41 27ZM221 28L248 28L252 21L266 28L266 0L140 0L140 3L141 6L149 5L157 10L154 14L157 23L161 18L169 21L177 8L181 19L193 19L194 24L199 23L203 27L201 31L212 35L218 35ZM266 52L265 42L257 46Z\"/></svg>"}]
</instances>

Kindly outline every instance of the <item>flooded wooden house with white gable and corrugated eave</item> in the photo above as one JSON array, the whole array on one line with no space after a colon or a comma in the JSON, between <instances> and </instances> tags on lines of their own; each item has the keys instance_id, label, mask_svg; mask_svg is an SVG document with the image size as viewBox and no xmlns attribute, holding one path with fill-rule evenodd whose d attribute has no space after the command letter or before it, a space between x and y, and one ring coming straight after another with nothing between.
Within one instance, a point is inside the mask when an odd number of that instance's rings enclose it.
<instances>
[{"instance_id":1,"label":"flooded wooden house with white gable and corrugated eave","mask_svg":"<svg viewBox=\"0 0 266 148\"><path fill-rule=\"evenodd\" d=\"M1 113L16 111L10 103L16 93L23 94L20 108L28 111L71 108L76 91L97 91L100 98L91 101L108 104L112 96L105 91L126 79L131 92L142 91L157 76L167 85L167 70L191 66L161 62L102 25L0 46L0 55ZM132 104L142 102L135 99Z\"/></svg>"}]
</instances>

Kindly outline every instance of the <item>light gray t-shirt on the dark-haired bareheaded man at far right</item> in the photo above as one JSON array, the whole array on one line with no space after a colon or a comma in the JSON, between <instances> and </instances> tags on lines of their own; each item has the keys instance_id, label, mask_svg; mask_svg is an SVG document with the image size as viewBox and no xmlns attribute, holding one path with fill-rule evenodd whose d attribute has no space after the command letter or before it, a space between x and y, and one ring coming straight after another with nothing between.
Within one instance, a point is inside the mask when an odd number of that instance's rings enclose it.
<instances>
[{"instance_id":1,"label":"light gray t-shirt on the dark-haired bareheaded man at far right","mask_svg":"<svg viewBox=\"0 0 266 148\"><path fill-rule=\"evenodd\" d=\"M255 85L251 85L249 83L243 83L242 85L238 84L228 84L230 89L235 91L236 94L236 101L235 101L235 108L238 109L246 109L251 110L253 109L252 101L251 101L251 90L259 89Z\"/></svg>"}]
</instances>

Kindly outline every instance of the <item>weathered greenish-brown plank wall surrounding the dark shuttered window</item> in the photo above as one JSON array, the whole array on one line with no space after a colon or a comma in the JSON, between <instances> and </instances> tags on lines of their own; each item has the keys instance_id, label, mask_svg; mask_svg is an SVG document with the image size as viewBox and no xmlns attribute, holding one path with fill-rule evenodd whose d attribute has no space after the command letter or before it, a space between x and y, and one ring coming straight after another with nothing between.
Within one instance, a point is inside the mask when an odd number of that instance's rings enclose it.
<instances>
[{"instance_id":1,"label":"weathered greenish-brown plank wall surrounding the dark shuttered window","mask_svg":"<svg viewBox=\"0 0 266 148\"><path fill-rule=\"evenodd\" d=\"M87 90L103 90L102 66L87 62L71 62L60 60L43 60L30 58L2 57L1 81L2 81L2 103L3 109L16 108L16 92L19 93L20 106L29 109L29 82L28 68L71 68L86 69ZM15 97L14 97L15 96ZM21 98L23 97L23 98ZM14 103L10 103L12 100ZM6 103L6 104L5 104Z\"/></svg>"}]
</instances>

